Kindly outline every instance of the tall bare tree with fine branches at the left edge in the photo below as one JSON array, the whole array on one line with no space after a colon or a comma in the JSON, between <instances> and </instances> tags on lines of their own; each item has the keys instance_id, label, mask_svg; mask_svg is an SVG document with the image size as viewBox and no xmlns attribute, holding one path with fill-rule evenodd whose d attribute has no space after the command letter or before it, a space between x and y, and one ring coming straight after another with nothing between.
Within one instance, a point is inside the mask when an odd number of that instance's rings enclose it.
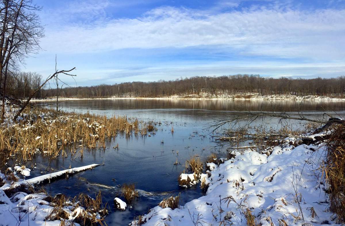
<instances>
[{"instance_id":1,"label":"tall bare tree with fine branches at the left edge","mask_svg":"<svg viewBox=\"0 0 345 226\"><path fill-rule=\"evenodd\" d=\"M43 37L37 10L41 7L32 0L1 0L0 1L0 80L2 81L2 115L6 82L9 70L18 69L29 54L40 49L39 39Z\"/></svg>"}]
</instances>

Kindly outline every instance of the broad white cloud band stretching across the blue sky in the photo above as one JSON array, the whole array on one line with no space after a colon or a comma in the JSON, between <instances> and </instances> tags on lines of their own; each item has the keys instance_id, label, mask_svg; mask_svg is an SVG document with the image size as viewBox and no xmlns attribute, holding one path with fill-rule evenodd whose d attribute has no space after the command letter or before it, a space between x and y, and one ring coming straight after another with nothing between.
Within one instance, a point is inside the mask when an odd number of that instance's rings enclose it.
<instances>
[{"instance_id":1,"label":"broad white cloud band stretching across the blue sky","mask_svg":"<svg viewBox=\"0 0 345 226\"><path fill-rule=\"evenodd\" d=\"M89 9L91 14L97 14L97 10L102 9ZM49 28L42 47L54 53L86 53L221 45L249 55L334 60L345 56L344 36L345 10L275 7L205 14L164 7L136 19L104 19L88 25L60 25L59 30Z\"/></svg>"}]
</instances>

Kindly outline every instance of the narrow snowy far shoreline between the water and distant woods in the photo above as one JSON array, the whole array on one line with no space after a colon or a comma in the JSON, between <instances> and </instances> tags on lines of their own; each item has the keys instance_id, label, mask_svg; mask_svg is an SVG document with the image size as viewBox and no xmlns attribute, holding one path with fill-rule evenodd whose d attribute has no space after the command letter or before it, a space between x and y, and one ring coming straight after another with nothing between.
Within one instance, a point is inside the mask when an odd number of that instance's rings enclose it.
<instances>
[{"instance_id":1,"label":"narrow snowy far shoreline between the water and distant woods","mask_svg":"<svg viewBox=\"0 0 345 226\"><path fill-rule=\"evenodd\" d=\"M237 97L236 97L237 96ZM235 96L222 96L222 97L105 97L105 98L59 98L59 101L68 100L286 100L286 101L345 101L345 98L331 98L323 96L294 96L294 95L270 95L270 96L259 96L255 95L250 98ZM30 102L50 102L56 101L56 98L47 99L31 99Z\"/></svg>"}]
</instances>

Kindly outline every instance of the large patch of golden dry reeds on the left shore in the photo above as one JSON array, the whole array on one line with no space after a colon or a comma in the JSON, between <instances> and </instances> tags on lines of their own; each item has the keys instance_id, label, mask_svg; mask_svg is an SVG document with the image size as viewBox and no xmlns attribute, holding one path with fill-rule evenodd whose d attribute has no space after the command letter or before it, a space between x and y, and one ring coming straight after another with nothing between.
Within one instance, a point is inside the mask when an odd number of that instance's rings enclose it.
<instances>
[{"instance_id":1,"label":"large patch of golden dry reeds on the left shore","mask_svg":"<svg viewBox=\"0 0 345 226\"><path fill-rule=\"evenodd\" d=\"M63 147L67 144L81 143L83 147L106 148L106 138L118 133L126 136L140 133L139 123L130 123L126 116L101 116L91 114L64 113L52 110L27 108L23 120L15 125L3 124L0 128L0 150L8 155L17 155L24 161L32 155L43 152L50 158L67 155Z\"/></svg>"}]
</instances>

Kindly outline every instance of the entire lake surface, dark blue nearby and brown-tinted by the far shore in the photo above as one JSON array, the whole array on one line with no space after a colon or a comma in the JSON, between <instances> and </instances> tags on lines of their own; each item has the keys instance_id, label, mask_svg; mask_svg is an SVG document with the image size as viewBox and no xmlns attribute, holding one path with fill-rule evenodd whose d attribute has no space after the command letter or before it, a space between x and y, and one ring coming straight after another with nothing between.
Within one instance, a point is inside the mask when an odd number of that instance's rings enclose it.
<instances>
[{"instance_id":1,"label":"entire lake surface, dark blue nearby and brown-tinted by the far shore","mask_svg":"<svg viewBox=\"0 0 345 226\"><path fill-rule=\"evenodd\" d=\"M39 105L54 104L39 102ZM195 199L203 192L198 186L181 189L177 178L184 169L184 163L191 156L198 155L204 159L211 152L225 155L224 147L214 148L214 138L205 124L213 118L225 118L229 111L303 111L305 115L322 117L324 110L344 114L345 103L342 101L239 101L239 100L78 100L60 101L60 107L66 111L77 111L97 114L121 114L138 117L142 120L162 122L157 124L158 131L151 137L131 136L125 138L118 135L106 143L105 150L84 151L83 158L59 157L49 160L41 155L34 156L31 177L49 173L50 169L66 169L91 163L102 163L104 166L77 173L69 178L60 179L45 187L49 193L65 193L75 196L80 192L95 196L99 190L103 194L103 202L108 202L111 213L106 217L108 225L127 225L135 215L145 214L149 208L156 206L165 196L181 192L181 204ZM277 119L256 121L256 124L276 126ZM290 122L287 122L290 123ZM174 127L174 134L170 129ZM161 141L164 143L161 143ZM119 144L119 150L112 147ZM77 144L76 144L77 145ZM66 147L68 151L68 147ZM177 154L178 151L178 154ZM174 166L178 161L181 165ZM36 165L35 165L36 164ZM37 168L33 168L36 166ZM135 183L136 188L154 193L141 195L132 204L132 208L120 212L114 210L114 198L119 194L118 185ZM142 192L141 194L144 194ZM147 194L147 193L146 193Z\"/></svg>"}]
</instances>

